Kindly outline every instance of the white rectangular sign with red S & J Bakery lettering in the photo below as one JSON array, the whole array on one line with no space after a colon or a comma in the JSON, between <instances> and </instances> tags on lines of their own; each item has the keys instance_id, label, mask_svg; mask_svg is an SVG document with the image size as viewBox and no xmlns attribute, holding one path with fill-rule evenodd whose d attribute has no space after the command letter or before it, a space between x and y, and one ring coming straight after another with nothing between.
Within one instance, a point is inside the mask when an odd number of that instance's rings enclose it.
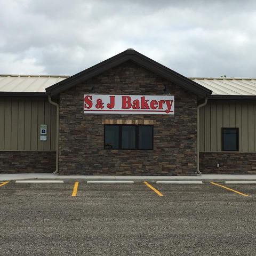
<instances>
[{"instance_id":1,"label":"white rectangular sign with red S & J Bakery lettering","mask_svg":"<svg viewBox=\"0 0 256 256\"><path fill-rule=\"evenodd\" d=\"M84 94L84 113L174 115L174 96Z\"/></svg>"}]
</instances>

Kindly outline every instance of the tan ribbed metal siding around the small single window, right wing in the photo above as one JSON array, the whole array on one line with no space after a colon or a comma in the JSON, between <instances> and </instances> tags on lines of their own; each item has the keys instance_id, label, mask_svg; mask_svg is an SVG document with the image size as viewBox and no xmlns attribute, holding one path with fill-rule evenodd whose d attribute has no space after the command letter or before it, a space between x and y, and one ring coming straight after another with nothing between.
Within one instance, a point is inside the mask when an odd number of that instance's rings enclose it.
<instances>
[{"instance_id":1,"label":"tan ribbed metal siding around the small single window, right wing","mask_svg":"<svg viewBox=\"0 0 256 256\"><path fill-rule=\"evenodd\" d=\"M221 151L221 127L239 128L239 151L256 151L256 102L209 101L200 109L200 151Z\"/></svg>"}]
</instances>

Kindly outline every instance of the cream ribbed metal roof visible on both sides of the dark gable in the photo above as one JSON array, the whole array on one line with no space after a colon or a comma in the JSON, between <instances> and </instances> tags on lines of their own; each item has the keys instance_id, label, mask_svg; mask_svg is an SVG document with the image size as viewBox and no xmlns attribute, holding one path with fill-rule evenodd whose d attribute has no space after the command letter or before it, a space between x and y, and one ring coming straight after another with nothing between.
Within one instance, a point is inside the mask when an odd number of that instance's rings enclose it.
<instances>
[{"instance_id":1,"label":"cream ribbed metal roof visible on both sides of the dark gable","mask_svg":"<svg viewBox=\"0 0 256 256\"><path fill-rule=\"evenodd\" d=\"M0 92L45 92L69 76L0 75ZM212 90L213 95L256 95L256 78L189 77Z\"/></svg>"}]
</instances>

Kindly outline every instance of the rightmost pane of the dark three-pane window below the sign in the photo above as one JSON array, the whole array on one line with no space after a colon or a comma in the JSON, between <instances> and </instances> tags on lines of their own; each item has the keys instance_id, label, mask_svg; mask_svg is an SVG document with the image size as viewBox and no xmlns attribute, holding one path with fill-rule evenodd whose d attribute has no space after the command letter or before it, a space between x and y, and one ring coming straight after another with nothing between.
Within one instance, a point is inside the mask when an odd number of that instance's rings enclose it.
<instances>
[{"instance_id":1,"label":"rightmost pane of the dark three-pane window below the sign","mask_svg":"<svg viewBox=\"0 0 256 256\"><path fill-rule=\"evenodd\" d=\"M153 126L143 125L138 129L139 149L153 149Z\"/></svg>"}]
</instances>

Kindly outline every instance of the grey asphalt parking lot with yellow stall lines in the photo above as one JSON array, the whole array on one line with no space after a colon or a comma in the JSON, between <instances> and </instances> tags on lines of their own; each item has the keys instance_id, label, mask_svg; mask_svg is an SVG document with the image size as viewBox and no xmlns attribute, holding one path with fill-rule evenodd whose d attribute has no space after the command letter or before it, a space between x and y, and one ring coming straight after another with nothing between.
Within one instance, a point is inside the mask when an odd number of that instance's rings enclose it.
<instances>
[{"instance_id":1,"label":"grey asphalt parking lot with yellow stall lines","mask_svg":"<svg viewBox=\"0 0 256 256\"><path fill-rule=\"evenodd\" d=\"M0 186L0 254L256 255L256 184L74 185Z\"/></svg>"}]
</instances>

